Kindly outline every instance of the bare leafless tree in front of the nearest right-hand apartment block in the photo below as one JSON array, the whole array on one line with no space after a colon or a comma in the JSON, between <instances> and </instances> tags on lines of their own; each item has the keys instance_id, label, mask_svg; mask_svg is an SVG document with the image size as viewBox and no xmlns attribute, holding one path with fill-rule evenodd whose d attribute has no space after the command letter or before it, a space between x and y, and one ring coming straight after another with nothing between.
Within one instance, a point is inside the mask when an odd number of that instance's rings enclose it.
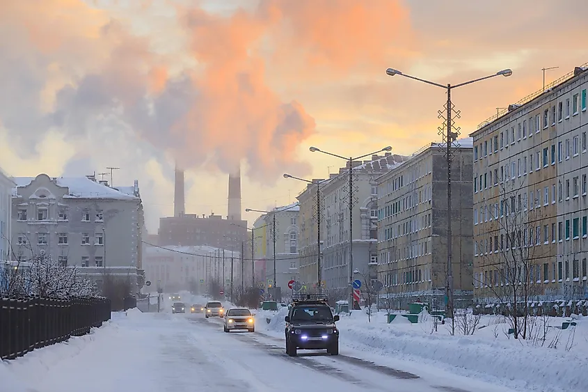
<instances>
[{"instance_id":1,"label":"bare leafless tree in front of the nearest right-hand apartment block","mask_svg":"<svg viewBox=\"0 0 588 392\"><path fill-rule=\"evenodd\" d=\"M537 261L549 255L546 246L539 246L541 235L553 233L552 227L543 224L539 207L543 192L532 191L527 200L523 184L507 179L500 185L498 198L485 201L479 219L493 221L493 229L486 230L486 237L475 244L481 260L475 286L498 301L516 339L527 338L530 301L541 293L536 282L541 276Z\"/></svg>"}]
</instances>

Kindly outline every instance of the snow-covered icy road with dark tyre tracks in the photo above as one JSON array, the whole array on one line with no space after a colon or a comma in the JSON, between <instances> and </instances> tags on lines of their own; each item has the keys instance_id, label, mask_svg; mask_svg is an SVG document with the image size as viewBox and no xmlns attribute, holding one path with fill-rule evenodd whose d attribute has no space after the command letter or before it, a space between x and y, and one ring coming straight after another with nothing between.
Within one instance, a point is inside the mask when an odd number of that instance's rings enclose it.
<instances>
[{"instance_id":1,"label":"snow-covered icy road with dark tyre tracks","mask_svg":"<svg viewBox=\"0 0 588 392\"><path fill-rule=\"evenodd\" d=\"M342 349L339 356L299 351L255 332L225 334L220 319L139 313L0 365L10 392L507 392L441 370L389 368Z\"/></svg>"}]
</instances>

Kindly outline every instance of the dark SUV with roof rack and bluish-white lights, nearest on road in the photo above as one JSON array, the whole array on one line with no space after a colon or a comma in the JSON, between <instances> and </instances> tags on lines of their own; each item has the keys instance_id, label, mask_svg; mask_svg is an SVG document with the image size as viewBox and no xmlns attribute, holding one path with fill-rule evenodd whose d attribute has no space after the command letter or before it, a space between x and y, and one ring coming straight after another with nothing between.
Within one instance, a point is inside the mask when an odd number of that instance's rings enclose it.
<instances>
[{"instance_id":1,"label":"dark SUV with roof rack and bluish-white lights, nearest on road","mask_svg":"<svg viewBox=\"0 0 588 392\"><path fill-rule=\"evenodd\" d=\"M286 353L289 356L296 356L299 349L326 349L328 354L339 354L339 330L335 325L339 316L333 316L326 299L313 299L311 295L294 299L285 321Z\"/></svg>"}]
</instances>

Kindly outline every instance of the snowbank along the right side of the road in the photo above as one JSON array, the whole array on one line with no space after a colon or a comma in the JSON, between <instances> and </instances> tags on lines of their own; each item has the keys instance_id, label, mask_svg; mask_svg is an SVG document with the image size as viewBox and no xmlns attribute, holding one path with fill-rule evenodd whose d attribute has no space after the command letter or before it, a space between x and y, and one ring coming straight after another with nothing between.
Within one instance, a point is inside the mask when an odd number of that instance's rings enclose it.
<instances>
[{"instance_id":1,"label":"snowbank along the right side of the road","mask_svg":"<svg viewBox=\"0 0 588 392\"><path fill-rule=\"evenodd\" d=\"M274 312L271 322L261 328L273 336L283 334L285 315L287 309L277 314ZM406 317L398 315L387 324L386 318L385 314L376 313L369 323L363 312L353 312L351 317L342 315L337 322L342 347L415 363L430 363L452 373L521 391L585 391L588 388L588 373L585 371L588 368L588 340L585 338L588 336L588 320L579 321L577 327L564 331L553 328L545 346L534 347L524 341L509 339L504 333L508 325L498 324L500 320L497 319L482 320L480 326L484 328L473 336L450 336L447 324L439 323L438 331L432 332L431 319L411 324ZM558 322L561 326L561 319L552 324ZM558 350L547 347L555 334L559 334ZM565 349L566 345L572 347L570 351Z\"/></svg>"}]
</instances>

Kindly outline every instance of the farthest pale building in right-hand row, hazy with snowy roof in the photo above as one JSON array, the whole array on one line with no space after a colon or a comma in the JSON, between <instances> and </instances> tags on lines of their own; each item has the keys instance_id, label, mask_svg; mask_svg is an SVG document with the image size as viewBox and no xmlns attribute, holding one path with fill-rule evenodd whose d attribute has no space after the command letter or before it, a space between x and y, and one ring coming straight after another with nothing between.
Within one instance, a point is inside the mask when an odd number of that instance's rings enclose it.
<instances>
[{"instance_id":1,"label":"farthest pale building in right-hand row, hazy with snowy roof","mask_svg":"<svg viewBox=\"0 0 588 392\"><path fill-rule=\"evenodd\" d=\"M254 228L262 229L255 258L264 260L264 288L277 286L285 292L289 281L298 281L299 203L276 207L263 214ZM273 281L273 216L276 216L276 281ZM258 230L259 230L258 229ZM257 230L256 230L257 233Z\"/></svg>"}]
</instances>

